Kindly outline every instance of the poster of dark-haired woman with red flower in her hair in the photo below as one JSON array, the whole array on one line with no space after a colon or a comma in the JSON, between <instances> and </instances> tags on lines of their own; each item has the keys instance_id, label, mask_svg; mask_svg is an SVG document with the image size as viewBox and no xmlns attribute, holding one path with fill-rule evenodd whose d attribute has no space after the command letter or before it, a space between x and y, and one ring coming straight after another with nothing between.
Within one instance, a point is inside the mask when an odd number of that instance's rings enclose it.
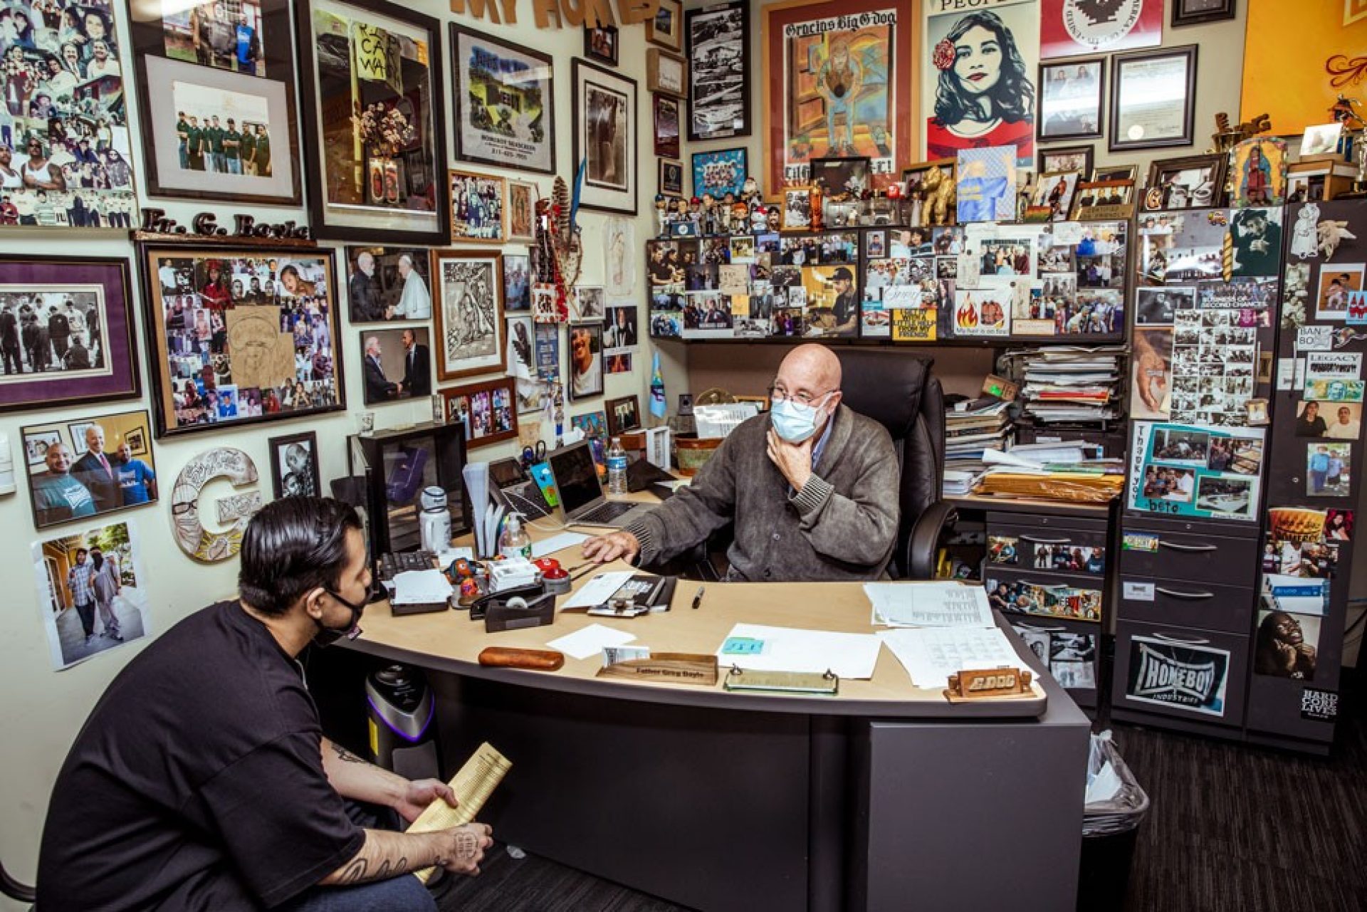
<instances>
[{"instance_id":1,"label":"poster of dark-haired woman with red flower in her hair","mask_svg":"<svg viewBox=\"0 0 1367 912\"><path fill-rule=\"evenodd\" d=\"M998 0L992 10L932 15L925 29L925 157L960 149L1016 146L1017 164L1035 164L1035 85L1039 7Z\"/></svg>"}]
</instances>

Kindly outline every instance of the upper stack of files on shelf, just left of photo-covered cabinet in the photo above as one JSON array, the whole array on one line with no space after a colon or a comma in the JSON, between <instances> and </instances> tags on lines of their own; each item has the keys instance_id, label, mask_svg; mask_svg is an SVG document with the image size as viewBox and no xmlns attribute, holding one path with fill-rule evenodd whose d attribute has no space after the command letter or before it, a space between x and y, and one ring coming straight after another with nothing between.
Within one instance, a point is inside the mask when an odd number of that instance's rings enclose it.
<instances>
[{"instance_id":1,"label":"upper stack of files on shelf, just left of photo-covered cabinet","mask_svg":"<svg viewBox=\"0 0 1367 912\"><path fill-rule=\"evenodd\" d=\"M1023 364L1021 416L1040 425L1103 427L1121 418L1124 349L1059 347L1009 353Z\"/></svg>"}]
</instances>

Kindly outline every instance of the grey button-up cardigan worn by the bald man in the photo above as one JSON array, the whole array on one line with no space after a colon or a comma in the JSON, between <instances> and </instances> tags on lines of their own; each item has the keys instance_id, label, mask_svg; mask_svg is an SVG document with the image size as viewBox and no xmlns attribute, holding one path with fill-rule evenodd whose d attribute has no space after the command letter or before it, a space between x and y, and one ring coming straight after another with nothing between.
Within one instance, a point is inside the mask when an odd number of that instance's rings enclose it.
<instances>
[{"instance_id":1,"label":"grey button-up cardigan worn by the bald man","mask_svg":"<svg viewBox=\"0 0 1367 912\"><path fill-rule=\"evenodd\" d=\"M726 438L693 484L633 522L642 563L668 561L734 521L729 580L876 580L898 522L887 429L838 406L812 477L793 492L767 453L760 414Z\"/></svg>"}]
</instances>

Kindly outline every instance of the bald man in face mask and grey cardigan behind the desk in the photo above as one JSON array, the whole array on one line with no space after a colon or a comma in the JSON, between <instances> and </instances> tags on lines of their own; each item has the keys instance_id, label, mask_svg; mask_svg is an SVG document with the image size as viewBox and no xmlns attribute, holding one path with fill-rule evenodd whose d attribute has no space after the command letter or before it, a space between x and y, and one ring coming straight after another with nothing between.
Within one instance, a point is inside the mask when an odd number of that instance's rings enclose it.
<instances>
[{"instance_id":1,"label":"bald man in face mask and grey cardigan behind the desk","mask_svg":"<svg viewBox=\"0 0 1367 912\"><path fill-rule=\"evenodd\" d=\"M658 563L729 522L730 581L876 580L897 540L897 453L882 424L841 405L830 349L793 349L772 410L735 428L693 484L584 556Z\"/></svg>"}]
</instances>

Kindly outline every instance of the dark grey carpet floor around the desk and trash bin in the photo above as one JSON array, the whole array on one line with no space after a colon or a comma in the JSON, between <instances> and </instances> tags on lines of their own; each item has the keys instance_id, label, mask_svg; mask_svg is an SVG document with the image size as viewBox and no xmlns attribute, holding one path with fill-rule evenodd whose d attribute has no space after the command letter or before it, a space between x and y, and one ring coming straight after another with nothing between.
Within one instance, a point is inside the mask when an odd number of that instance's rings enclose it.
<instances>
[{"instance_id":1,"label":"dark grey carpet floor around the desk and trash bin","mask_svg":"<svg viewBox=\"0 0 1367 912\"><path fill-rule=\"evenodd\" d=\"M1367 912L1367 725L1360 681L1329 760L1115 726L1148 792L1125 912ZM502 844L442 912L677 912ZM1121 907L1098 907L1118 909ZM757 911L759 912L759 911ZM767 911L764 911L767 912Z\"/></svg>"}]
</instances>

